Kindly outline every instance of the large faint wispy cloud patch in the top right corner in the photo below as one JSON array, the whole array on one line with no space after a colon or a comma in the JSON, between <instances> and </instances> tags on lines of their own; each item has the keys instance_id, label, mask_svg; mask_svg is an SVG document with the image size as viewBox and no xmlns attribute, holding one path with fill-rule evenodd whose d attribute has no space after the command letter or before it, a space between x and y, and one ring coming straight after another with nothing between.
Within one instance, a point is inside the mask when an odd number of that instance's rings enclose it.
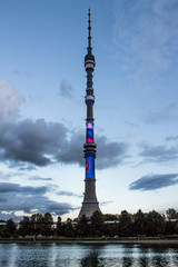
<instances>
[{"instance_id":1,"label":"large faint wispy cloud patch in the top right corner","mask_svg":"<svg viewBox=\"0 0 178 267\"><path fill-rule=\"evenodd\" d=\"M139 87L151 88L178 55L177 0L115 1L113 8L116 53L128 75L136 71Z\"/></svg>"}]
</instances>

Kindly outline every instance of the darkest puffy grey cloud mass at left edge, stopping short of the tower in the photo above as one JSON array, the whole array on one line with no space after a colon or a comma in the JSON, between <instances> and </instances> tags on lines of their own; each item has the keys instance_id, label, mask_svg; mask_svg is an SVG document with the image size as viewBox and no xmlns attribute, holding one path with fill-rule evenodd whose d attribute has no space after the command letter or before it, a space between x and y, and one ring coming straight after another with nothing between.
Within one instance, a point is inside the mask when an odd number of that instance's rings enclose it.
<instances>
[{"instance_id":1,"label":"darkest puffy grey cloud mass at left edge, stopping short of the tower","mask_svg":"<svg viewBox=\"0 0 178 267\"><path fill-rule=\"evenodd\" d=\"M47 166L66 142L67 128L62 123L27 119L0 130L0 159Z\"/></svg>"}]
</instances>

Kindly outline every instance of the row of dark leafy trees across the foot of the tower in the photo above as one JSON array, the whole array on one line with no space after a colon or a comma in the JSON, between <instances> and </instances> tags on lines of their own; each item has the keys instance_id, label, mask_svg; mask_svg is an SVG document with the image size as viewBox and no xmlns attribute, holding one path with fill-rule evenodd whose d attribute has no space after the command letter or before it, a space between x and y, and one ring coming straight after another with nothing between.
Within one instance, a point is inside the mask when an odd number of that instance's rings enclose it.
<instances>
[{"instance_id":1,"label":"row of dark leafy trees across the foot of the tower","mask_svg":"<svg viewBox=\"0 0 178 267\"><path fill-rule=\"evenodd\" d=\"M90 218L85 215L62 222L58 217L53 222L50 212L44 215L33 214L30 217L16 224L13 219L0 220L0 237L26 237L26 236L57 236L57 237L138 237L138 236L161 236L178 234L178 212L168 209L166 215L155 210L136 214L122 210L120 215L102 215L95 211Z\"/></svg>"}]
</instances>

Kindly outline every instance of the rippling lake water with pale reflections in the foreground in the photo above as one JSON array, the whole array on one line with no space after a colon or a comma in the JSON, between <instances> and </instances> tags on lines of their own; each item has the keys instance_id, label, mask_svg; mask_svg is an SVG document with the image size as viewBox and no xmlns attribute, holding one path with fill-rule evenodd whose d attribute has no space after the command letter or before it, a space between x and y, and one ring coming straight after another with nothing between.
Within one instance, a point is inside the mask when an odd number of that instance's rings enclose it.
<instances>
[{"instance_id":1,"label":"rippling lake water with pale reflections in the foreground","mask_svg":"<svg viewBox=\"0 0 178 267\"><path fill-rule=\"evenodd\" d=\"M0 267L175 267L178 247L0 244Z\"/></svg>"}]
</instances>

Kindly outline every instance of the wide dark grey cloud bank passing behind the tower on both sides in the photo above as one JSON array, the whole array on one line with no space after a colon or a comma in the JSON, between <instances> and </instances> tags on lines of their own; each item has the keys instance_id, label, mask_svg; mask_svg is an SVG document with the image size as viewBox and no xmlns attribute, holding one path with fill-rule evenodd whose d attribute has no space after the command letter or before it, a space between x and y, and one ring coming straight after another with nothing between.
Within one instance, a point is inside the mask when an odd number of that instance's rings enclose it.
<instances>
[{"instance_id":1,"label":"wide dark grey cloud bank passing behind the tower on both sides","mask_svg":"<svg viewBox=\"0 0 178 267\"><path fill-rule=\"evenodd\" d=\"M83 142L85 130L69 132L63 123L27 119L1 127L0 160L23 170L57 162L83 166ZM97 136L96 142L98 169L117 166L128 157L125 142L109 141L103 136Z\"/></svg>"}]
</instances>

